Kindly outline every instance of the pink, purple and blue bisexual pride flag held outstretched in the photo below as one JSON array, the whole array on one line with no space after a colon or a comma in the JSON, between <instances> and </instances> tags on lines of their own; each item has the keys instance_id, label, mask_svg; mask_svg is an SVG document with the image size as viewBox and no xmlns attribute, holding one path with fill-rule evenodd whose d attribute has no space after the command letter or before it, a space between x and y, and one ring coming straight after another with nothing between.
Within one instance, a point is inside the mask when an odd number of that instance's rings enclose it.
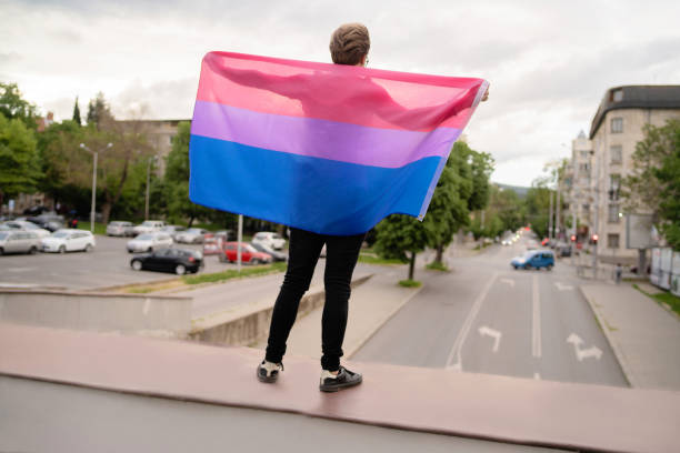
<instances>
[{"instance_id":1,"label":"pink, purple and blue bisexual pride flag held outstretched","mask_svg":"<svg viewBox=\"0 0 680 453\"><path fill-rule=\"evenodd\" d=\"M190 141L198 204L322 234L423 219L482 79L210 52Z\"/></svg>"}]
</instances>

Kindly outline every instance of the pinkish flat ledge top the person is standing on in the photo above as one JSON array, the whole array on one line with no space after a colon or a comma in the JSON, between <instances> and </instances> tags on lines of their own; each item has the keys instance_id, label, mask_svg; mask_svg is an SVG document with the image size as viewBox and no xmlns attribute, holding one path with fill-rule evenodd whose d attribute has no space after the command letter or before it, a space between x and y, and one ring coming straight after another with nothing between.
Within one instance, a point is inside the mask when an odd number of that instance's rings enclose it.
<instances>
[{"instance_id":1,"label":"pinkish flat ledge top the person is standing on","mask_svg":"<svg viewBox=\"0 0 680 453\"><path fill-rule=\"evenodd\" d=\"M680 392L354 363L363 383L324 394L317 361L287 356L271 385L256 378L259 360L247 348L0 324L6 375L526 445L677 447Z\"/></svg>"}]
</instances>

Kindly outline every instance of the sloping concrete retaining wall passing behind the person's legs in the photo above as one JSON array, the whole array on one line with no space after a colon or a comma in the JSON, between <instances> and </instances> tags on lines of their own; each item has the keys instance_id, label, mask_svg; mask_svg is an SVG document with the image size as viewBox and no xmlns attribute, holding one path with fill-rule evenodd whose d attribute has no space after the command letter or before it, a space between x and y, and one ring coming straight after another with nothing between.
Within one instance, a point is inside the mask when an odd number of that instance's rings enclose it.
<instances>
[{"instance_id":1,"label":"sloping concrete retaining wall passing behind the person's legs","mask_svg":"<svg viewBox=\"0 0 680 453\"><path fill-rule=\"evenodd\" d=\"M360 275L352 280L356 288L368 281L373 274ZM298 318L304 316L321 306L326 299L323 288L312 288L300 300ZM261 341L269 332L273 300L254 301L221 312L210 318L191 321L191 340L229 345L252 345Z\"/></svg>"}]
</instances>

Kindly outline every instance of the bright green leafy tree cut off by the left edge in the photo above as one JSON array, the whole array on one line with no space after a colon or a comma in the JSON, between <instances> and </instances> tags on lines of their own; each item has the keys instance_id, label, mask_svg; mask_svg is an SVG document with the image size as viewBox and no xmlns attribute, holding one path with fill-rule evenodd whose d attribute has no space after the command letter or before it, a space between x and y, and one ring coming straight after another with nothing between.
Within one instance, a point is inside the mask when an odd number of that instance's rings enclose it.
<instances>
[{"instance_id":1,"label":"bright green leafy tree cut off by the left edge","mask_svg":"<svg viewBox=\"0 0 680 453\"><path fill-rule=\"evenodd\" d=\"M19 118L0 114L0 204L6 197L33 192L39 179L33 130Z\"/></svg>"}]
</instances>

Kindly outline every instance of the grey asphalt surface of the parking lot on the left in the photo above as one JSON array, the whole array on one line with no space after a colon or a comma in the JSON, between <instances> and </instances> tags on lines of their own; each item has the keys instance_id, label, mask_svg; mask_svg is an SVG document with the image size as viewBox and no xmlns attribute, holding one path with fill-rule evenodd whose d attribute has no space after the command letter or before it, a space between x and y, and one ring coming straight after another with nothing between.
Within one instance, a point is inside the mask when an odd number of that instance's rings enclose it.
<instances>
[{"instance_id":1,"label":"grey asphalt surface of the parking lot on the left","mask_svg":"<svg viewBox=\"0 0 680 453\"><path fill-rule=\"evenodd\" d=\"M126 250L130 238L97 235L97 245L90 253L69 252L8 254L0 256L0 286L61 286L67 289L96 289L172 278L171 273L133 271L133 256ZM198 244L174 244L177 249L202 250ZM247 265L247 264L244 264ZM206 256L201 272L236 269L236 264L221 263L216 255Z\"/></svg>"}]
</instances>

